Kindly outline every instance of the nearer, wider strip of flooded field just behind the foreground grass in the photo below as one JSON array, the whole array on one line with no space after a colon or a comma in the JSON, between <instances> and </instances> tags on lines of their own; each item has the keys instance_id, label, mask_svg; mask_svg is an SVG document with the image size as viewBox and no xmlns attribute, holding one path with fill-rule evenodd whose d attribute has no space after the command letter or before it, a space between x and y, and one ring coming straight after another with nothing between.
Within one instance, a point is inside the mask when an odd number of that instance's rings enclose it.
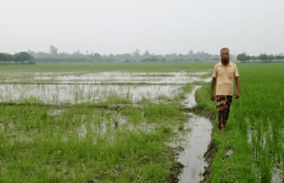
<instances>
[{"instance_id":1,"label":"nearer, wider strip of flooded field just behind the foreground grass","mask_svg":"<svg viewBox=\"0 0 284 183\"><path fill-rule=\"evenodd\" d=\"M0 102L36 100L45 103L105 102L118 96L132 102L172 99L182 85L0 84ZM34 102L36 102L34 101Z\"/></svg>"}]
</instances>

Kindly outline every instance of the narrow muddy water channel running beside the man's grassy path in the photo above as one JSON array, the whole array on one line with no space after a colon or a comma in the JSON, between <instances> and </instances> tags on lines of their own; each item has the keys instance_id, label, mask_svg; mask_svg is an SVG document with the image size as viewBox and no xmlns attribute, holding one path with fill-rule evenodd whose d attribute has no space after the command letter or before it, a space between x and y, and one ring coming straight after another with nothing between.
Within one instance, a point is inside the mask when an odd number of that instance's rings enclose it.
<instances>
[{"instance_id":1,"label":"narrow muddy water channel running beside the man's grassy path","mask_svg":"<svg viewBox=\"0 0 284 183\"><path fill-rule=\"evenodd\" d=\"M193 107L195 102L195 91L201 86L195 86L191 93L188 94L184 105ZM192 116L185 127L191 128L179 142L180 146L185 148L181 151L177 161L185 165L183 172L179 176L179 183L199 183L203 180L204 167L208 166L203 155L207 151L207 146L211 141L213 124L209 119L189 113Z\"/></svg>"}]
</instances>

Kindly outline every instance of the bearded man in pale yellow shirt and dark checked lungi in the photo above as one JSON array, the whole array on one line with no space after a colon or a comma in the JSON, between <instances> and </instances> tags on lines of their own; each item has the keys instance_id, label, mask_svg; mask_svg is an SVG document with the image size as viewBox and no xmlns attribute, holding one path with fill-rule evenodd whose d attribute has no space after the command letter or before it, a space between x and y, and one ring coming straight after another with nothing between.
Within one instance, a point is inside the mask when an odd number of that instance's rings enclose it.
<instances>
[{"instance_id":1,"label":"bearded man in pale yellow shirt and dark checked lungi","mask_svg":"<svg viewBox=\"0 0 284 183\"><path fill-rule=\"evenodd\" d=\"M229 118L230 105L234 95L233 77L236 80L237 93L235 99L239 98L240 84L238 79L237 65L230 62L230 54L228 48L221 49L221 62L217 63L214 67L213 79L211 82L210 98L215 101L213 90L216 85L216 108L218 114L218 129L224 130Z\"/></svg>"}]
</instances>

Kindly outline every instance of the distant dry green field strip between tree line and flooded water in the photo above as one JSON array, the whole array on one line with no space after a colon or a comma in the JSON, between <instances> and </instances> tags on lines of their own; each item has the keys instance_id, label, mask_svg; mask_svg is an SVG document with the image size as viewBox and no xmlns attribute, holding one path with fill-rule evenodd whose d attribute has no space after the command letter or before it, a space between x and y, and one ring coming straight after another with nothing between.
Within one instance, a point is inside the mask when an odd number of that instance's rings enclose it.
<instances>
[{"instance_id":1,"label":"distant dry green field strip between tree line and flooded water","mask_svg":"<svg viewBox=\"0 0 284 183\"><path fill-rule=\"evenodd\" d=\"M91 66L93 64L93 66ZM34 65L0 65L1 71L207 71L214 68L208 63L36 63Z\"/></svg>"}]
</instances>

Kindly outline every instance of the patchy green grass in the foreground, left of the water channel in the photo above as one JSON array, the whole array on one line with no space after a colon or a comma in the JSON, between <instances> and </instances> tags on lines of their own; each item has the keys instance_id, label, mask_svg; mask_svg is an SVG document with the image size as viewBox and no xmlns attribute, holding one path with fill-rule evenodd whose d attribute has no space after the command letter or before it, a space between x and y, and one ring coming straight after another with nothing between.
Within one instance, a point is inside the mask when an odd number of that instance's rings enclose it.
<instances>
[{"instance_id":1,"label":"patchy green grass in the foreground, left of the water channel","mask_svg":"<svg viewBox=\"0 0 284 183\"><path fill-rule=\"evenodd\" d=\"M171 150L169 129L161 123L156 133L129 131L109 123L105 135L96 133L104 122L113 122L115 112L79 104L63 108L45 106L0 107L0 182L163 182L169 179ZM145 109L146 111L148 109ZM174 109L172 109L174 110ZM128 108L139 125L145 121L141 111ZM151 119L154 120L152 114ZM82 124L86 134L78 132ZM95 131L93 131L95 125ZM164 129L164 130L160 130ZM173 134L172 134L173 135ZM114 136L114 139L110 139ZM95 143L94 143L95 142ZM145 160L146 157L146 160ZM118 170L118 167L123 167Z\"/></svg>"}]
</instances>

